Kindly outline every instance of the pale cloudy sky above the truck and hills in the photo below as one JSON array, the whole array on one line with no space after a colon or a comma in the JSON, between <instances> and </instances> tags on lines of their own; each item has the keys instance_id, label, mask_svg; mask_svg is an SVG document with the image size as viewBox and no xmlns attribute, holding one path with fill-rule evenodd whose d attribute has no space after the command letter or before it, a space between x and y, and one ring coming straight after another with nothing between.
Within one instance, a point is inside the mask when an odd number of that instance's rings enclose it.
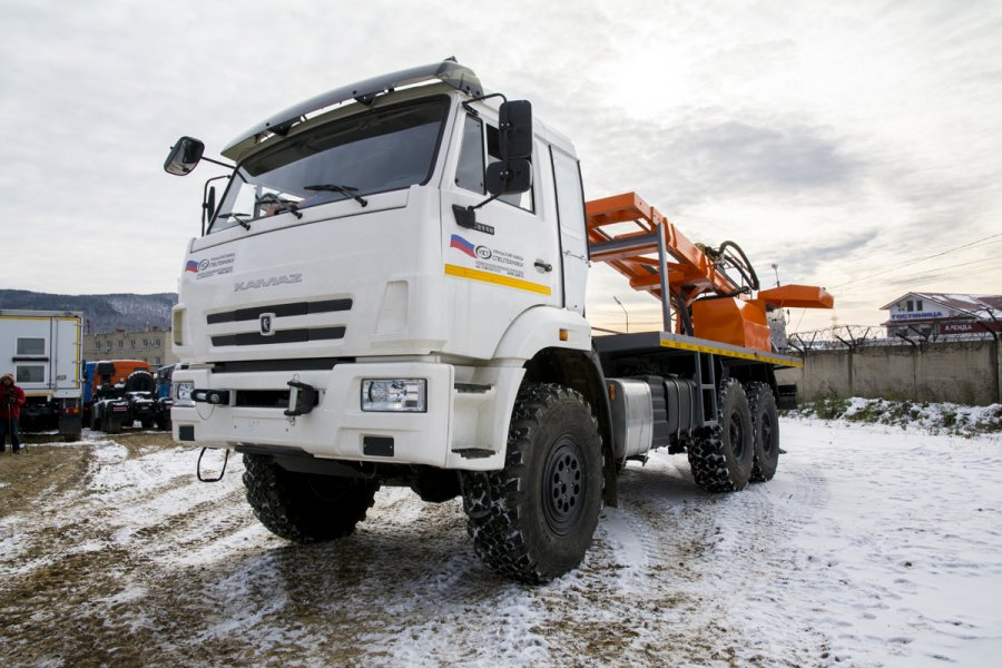
<instances>
[{"instance_id":1,"label":"pale cloudy sky above the truck and hills","mask_svg":"<svg viewBox=\"0 0 1002 668\"><path fill-rule=\"evenodd\" d=\"M635 190L765 286L790 331L874 325L910 291L1002 293L1002 2L0 0L0 287L177 288L206 155L273 112L455 56L574 143L587 198ZM774 268L772 265L776 265ZM608 268L593 324L657 328Z\"/></svg>"}]
</instances>

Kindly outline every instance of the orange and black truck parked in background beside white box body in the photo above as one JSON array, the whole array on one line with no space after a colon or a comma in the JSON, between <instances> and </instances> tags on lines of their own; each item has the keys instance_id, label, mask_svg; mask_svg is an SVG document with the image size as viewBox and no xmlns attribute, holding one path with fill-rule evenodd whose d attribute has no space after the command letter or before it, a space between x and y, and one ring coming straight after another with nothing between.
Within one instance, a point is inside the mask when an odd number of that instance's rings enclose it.
<instances>
[{"instance_id":1,"label":"orange and black truck parked in background beside white box body","mask_svg":"<svg viewBox=\"0 0 1002 668\"><path fill-rule=\"evenodd\" d=\"M84 406L92 430L116 434L122 428L170 429L169 399L161 399L149 363L102 360L84 365Z\"/></svg>"}]
</instances>

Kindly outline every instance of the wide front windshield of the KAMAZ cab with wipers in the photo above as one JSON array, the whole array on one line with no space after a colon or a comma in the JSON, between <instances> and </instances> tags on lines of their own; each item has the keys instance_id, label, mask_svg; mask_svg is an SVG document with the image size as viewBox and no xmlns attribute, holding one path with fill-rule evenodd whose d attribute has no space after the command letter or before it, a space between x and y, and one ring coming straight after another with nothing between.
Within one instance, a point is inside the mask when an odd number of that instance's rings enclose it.
<instances>
[{"instance_id":1,"label":"wide front windshield of the KAMAZ cab with wipers","mask_svg":"<svg viewBox=\"0 0 1002 668\"><path fill-rule=\"evenodd\" d=\"M424 184L449 109L445 97L372 109L291 137L240 163L209 233L318 204Z\"/></svg>"}]
</instances>

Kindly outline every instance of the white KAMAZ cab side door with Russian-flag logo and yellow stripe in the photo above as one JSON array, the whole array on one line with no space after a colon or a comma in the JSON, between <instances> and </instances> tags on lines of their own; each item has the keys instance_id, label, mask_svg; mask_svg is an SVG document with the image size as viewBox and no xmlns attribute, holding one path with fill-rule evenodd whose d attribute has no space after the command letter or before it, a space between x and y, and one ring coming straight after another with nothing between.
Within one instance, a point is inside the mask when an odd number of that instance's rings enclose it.
<instances>
[{"instance_id":1,"label":"white KAMAZ cab side door with Russian-flag logo and yellow stripe","mask_svg":"<svg viewBox=\"0 0 1002 668\"><path fill-rule=\"evenodd\" d=\"M455 279L454 320L460 326L453 332L465 330L469 335L464 343L455 343L489 355L504 331L499 323L509 323L536 305L562 306L563 286L557 225L544 219L538 185L541 161L548 161L548 156L536 140L533 188L483 204L489 197L484 169L500 159L499 135L487 107L475 106L485 111L459 110L443 178L443 265L446 276ZM453 213L454 207L481 204L471 227L461 225Z\"/></svg>"}]
</instances>

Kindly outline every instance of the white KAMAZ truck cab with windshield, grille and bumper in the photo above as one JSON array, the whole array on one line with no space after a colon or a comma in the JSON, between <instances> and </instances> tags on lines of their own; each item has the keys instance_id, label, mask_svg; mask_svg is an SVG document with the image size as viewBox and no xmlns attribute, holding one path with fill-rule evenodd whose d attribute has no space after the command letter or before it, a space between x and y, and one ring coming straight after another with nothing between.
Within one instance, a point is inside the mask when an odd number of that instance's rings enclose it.
<instances>
[{"instance_id":1,"label":"white KAMAZ truck cab with windshield, grille and bumper","mask_svg":"<svg viewBox=\"0 0 1002 668\"><path fill-rule=\"evenodd\" d=\"M591 348L573 147L505 126L501 101L436 63L314 98L223 150L236 166L174 310L179 441L501 465L524 362ZM502 150L513 132L523 158ZM513 159L521 191L492 195Z\"/></svg>"}]
</instances>

